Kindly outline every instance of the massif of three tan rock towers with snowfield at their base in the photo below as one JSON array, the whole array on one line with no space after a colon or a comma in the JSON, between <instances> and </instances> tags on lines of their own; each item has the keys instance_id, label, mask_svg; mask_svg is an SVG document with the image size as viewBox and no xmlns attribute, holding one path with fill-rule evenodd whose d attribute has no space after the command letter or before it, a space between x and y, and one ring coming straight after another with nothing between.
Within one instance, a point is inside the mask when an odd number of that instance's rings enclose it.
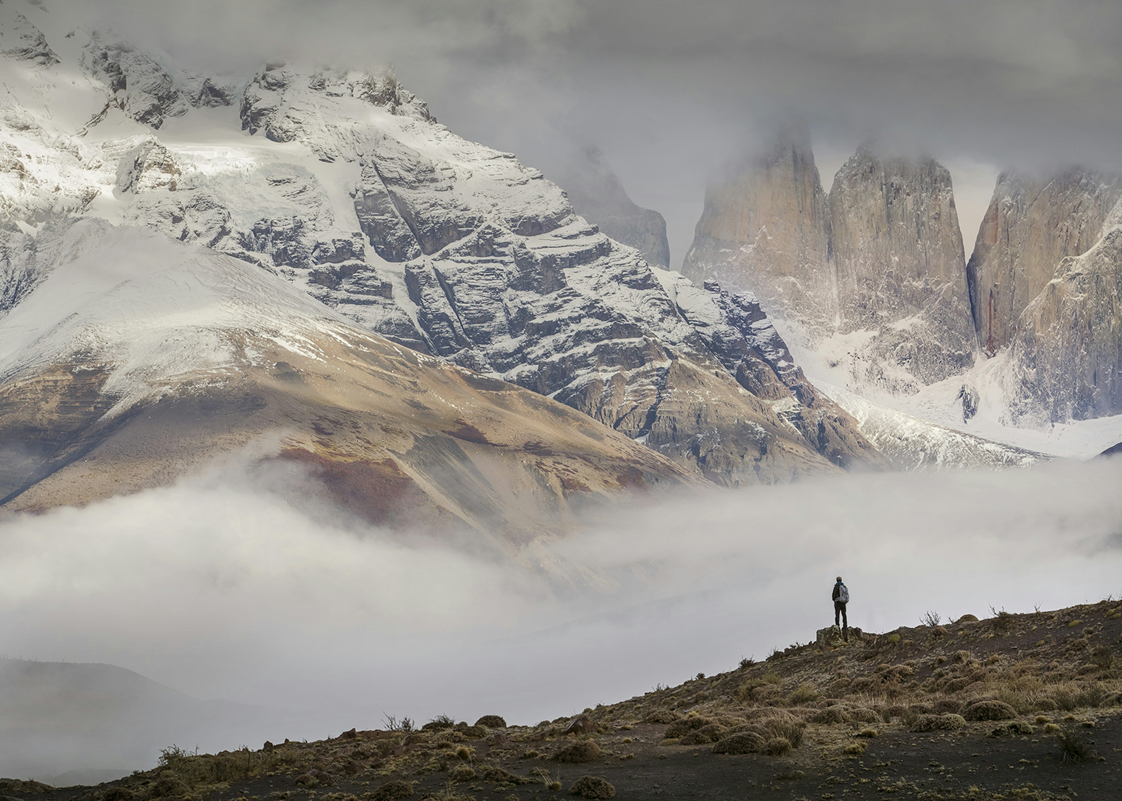
<instances>
[{"instance_id":1,"label":"massif of three tan rock towers with snowfield at their base","mask_svg":"<svg viewBox=\"0 0 1122 801\"><path fill-rule=\"evenodd\" d=\"M709 187L683 273L755 293L812 378L844 387L842 405L896 463L893 438L916 430L895 414L984 429L1014 450L994 461L945 444L966 461L1021 463L1020 446L1048 442L1018 426L1122 413L1120 197L1118 176L1003 174L966 265L945 167L861 148L824 193L797 131ZM1088 448L1122 439L1122 418L1087 436ZM930 462L923 438L910 439L919 450L904 461Z\"/></svg>"}]
</instances>

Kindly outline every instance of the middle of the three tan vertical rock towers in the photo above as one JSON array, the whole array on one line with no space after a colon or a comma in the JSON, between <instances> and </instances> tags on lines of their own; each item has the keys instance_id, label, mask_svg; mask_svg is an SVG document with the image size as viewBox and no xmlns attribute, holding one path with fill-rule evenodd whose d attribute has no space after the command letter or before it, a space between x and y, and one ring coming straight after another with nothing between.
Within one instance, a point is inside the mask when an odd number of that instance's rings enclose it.
<instances>
[{"instance_id":1,"label":"middle of the three tan vertical rock towers","mask_svg":"<svg viewBox=\"0 0 1122 801\"><path fill-rule=\"evenodd\" d=\"M829 203L838 330L876 331L877 359L923 384L968 368L974 331L947 168L862 148Z\"/></svg>"}]
</instances>

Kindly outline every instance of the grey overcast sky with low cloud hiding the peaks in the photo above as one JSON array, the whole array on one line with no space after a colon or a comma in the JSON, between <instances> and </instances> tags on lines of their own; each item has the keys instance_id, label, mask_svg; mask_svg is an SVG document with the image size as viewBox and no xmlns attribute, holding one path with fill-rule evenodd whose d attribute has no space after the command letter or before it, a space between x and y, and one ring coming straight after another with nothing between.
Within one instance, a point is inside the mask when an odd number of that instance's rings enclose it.
<instances>
[{"instance_id":1,"label":"grey overcast sky with low cloud hiding the peaks","mask_svg":"<svg viewBox=\"0 0 1122 801\"><path fill-rule=\"evenodd\" d=\"M967 252L999 168L1122 163L1118 0L99 6L122 34L200 67L392 62L454 131L546 173L598 145L635 201L666 217L674 264L709 177L792 118L812 129L827 190L870 138L946 163Z\"/></svg>"}]
</instances>

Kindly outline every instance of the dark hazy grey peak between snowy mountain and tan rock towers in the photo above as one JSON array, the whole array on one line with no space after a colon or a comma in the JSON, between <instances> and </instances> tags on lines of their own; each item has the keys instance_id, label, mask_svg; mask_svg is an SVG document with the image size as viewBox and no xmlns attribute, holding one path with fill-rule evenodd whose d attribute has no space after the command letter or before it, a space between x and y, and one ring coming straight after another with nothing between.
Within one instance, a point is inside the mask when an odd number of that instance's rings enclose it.
<instances>
[{"instance_id":1,"label":"dark hazy grey peak between snowy mountain and tan rock towers","mask_svg":"<svg viewBox=\"0 0 1122 801\"><path fill-rule=\"evenodd\" d=\"M598 148L588 148L557 176L573 210L617 242L629 245L655 267L670 267L670 243L662 214L643 209Z\"/></svg>"}]
</instances>

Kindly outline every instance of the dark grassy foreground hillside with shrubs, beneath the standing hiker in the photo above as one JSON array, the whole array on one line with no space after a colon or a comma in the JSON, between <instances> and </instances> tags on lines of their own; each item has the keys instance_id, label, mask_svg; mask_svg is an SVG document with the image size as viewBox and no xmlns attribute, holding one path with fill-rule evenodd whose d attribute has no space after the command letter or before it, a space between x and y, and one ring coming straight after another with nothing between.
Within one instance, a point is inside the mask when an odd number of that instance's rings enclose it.
<instances>
[{"instance_id":1,"label":"dark grassy foreground hillside with shrubs, beneath the standing hiker","mask_svg":"<svg viewBox=\"0 0 1122 801\"><path fill-rule=\"evenodd\" d=\"M792 646L571 721L507 727L489 716L259 751L168 751L156 770L96 788L4 780L0 794L512 801L583 789L583 798L619 799L1114 799L1120 641L1116 601L1001 613Z\"/></svg>"}]
</instances>

